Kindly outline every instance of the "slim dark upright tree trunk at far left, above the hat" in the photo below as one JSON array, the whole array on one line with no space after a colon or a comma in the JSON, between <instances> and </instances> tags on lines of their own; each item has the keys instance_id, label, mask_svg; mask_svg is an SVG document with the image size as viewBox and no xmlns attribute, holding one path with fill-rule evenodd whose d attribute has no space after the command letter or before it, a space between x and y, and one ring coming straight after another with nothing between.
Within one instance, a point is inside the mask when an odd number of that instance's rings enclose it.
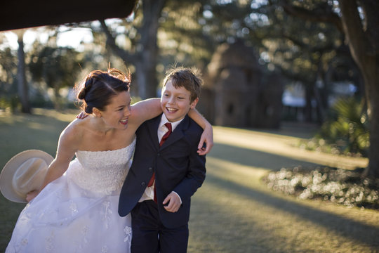
<instances>
[{"instance_id":1,"label":"slim dark upright tree trunk at far left, above the hat","mask_svg":"<svg viewBox=\"0 0 379 253\"><path fill-rule=\"evenodd\" d=\"M21 112L32 113L29 104L28 87L25 75L25 53L24 53L24 32L18 33L18 67L17 67L17 82L18 96L21 102Z\"/></svg>"}]
</instances>

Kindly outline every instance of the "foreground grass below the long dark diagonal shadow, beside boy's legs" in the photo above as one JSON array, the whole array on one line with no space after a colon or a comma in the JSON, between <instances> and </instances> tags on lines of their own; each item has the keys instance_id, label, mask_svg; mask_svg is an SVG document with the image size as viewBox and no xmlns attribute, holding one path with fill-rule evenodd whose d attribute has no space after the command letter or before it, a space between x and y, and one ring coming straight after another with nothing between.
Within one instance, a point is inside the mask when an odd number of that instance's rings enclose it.
<instances>
[{"instance_id":1,"label":"foreground grass below the long dark diagonal shadow, beside boy's legs","mask_svg":"<svg viewBox=\"0 0 379 253\"><path fill-rule=\"evenodd\" d=\"M342 252L370 252L364 244L312 219L281 212L218 184L204 186L196 203L203 212L194 211L194 204L189 243L194 250L190 252L338 252L340 247ZM207 245L218 249L201 251Z\"/></svg>"}]
</instances>

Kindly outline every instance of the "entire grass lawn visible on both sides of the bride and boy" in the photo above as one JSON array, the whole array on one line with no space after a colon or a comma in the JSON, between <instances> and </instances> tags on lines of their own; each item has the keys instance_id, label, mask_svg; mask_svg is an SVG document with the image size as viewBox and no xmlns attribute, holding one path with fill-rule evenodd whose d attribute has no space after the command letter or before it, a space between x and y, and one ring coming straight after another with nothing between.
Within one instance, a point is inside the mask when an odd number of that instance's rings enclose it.
<instances>
[{"instance_id":1,"label":"entire grass lawn visible on both sides of the bride and boy","mask_svg":"<svg viewBox=\"0 0 379 253\"><path fill-rule=\"evenodd\" d=\"M35 115L0 114L0 165L16 153L38 148L55 154L60 131L77 112L36 110ZM309 127L251 131L214 127L207 177L192 198L188 252L379 252L379 212L272 192L262 176L281 167L354 167L346 159L298 150ZM24 205L0 196L0 252Z\"/></svg>"}]
</instances>

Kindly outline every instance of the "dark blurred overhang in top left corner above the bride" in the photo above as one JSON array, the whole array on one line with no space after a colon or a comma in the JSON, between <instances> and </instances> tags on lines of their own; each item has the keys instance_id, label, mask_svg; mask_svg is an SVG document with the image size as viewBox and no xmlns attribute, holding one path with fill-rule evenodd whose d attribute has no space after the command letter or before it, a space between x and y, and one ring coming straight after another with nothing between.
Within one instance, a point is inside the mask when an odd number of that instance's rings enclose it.
<instances>
[{"instance_id":1,"label":"dark blurred overhang in top left corner above the bride","mask_svg":"<svg viewBox=\"0 0 379 253\"><path fill-rule=\"evenodd\" d=\"M0 31L126 18L136 0L10 0L1 3Z\"/></svg>"}]
</instances>

